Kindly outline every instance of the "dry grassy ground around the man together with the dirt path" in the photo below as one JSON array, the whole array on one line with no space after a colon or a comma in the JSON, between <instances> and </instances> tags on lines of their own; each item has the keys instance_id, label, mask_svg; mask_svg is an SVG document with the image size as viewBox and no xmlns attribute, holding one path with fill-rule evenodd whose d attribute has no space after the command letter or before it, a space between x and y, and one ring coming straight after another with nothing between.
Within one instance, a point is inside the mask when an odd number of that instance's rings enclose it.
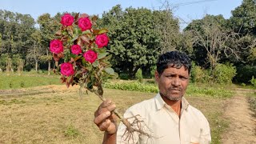
<instances>
[{"instance_id":1,"label":"dry grassy ground around the man together with the dirt path","mask_svg":"<svg viewBox=\"0 0 256 144\"><path fill-rule=\"evenodd\" d=\"M213 143L249 144L256 143L256 118L246 100L249 92L254 93L238 89L232 98L186 98L210 121ZM102 132L93 123L101 101L85 93L80 98L78 86L66 89L63 85L0 90L0 143L101 143ZM128 106L155 94L108 89L105 95L115 100L123 114ZM220 133L222 138L218 131L225 125L220 117L229 123Z\"/></svg>"}]
</instances>

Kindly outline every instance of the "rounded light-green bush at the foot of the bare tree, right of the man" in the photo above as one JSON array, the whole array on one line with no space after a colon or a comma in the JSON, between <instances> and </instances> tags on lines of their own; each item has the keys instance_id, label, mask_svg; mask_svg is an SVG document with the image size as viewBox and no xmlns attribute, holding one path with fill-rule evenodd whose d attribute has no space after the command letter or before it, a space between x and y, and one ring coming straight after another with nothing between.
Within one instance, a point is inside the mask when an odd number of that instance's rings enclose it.
<instances>
[{"instance_id":1,"label":"rounded light-green bush at the foot of the bare tree, right of the man","mask_svg":"<svg viewBox=\"0 0 256 144\"><path fill-rule=\"evenodd\" d=\"M220 64L213 71L214 82L219 84L231 84L236 74L236 68L232 64Z\"/></svg>"}]
</instances>

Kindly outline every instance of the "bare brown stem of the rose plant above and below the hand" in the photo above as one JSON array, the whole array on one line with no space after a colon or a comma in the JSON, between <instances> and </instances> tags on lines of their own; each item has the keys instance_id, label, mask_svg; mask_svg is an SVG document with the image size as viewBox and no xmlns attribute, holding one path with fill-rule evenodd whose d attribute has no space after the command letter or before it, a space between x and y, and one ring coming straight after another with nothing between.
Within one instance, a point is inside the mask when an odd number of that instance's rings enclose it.
<instances>
[{"instance_id":1,"label":"bare brown stem of the rose plant above and below the hand","mask_svg":"<svg viewBox=\"0 0 256 144\"><path fill-rule=\"evenodd\" d=\"M106 98L103 96L103 88L102 85L98 86L98 90L94 91L96 95L98 95L98 98L100 98L103 102L106 101ZM121 114L118 113L118 110L113 110L113 113L122 121L122 123L126 126L128 133L132 134L134 131L138 132L139 134L143 134L148 138L153 138L151 134L146 133L143 130L136 129L131 126L130 122L127 120L127 118L123 118Z\"/></svg>"}]
</instances>

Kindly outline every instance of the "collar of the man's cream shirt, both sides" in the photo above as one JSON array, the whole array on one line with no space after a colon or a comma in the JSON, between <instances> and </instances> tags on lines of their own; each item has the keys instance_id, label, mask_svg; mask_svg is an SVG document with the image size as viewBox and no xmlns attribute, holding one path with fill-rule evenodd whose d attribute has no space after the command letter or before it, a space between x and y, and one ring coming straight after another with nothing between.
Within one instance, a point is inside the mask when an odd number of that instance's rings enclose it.
<instances>
[{"instance_id":1,"label":"collar of the man's cream shirt, both sides","mask_svg":"<svg viewBox=\"0 0 256 144\"><path fill-rule=\"evenodd\" d=\"M161 95L158 93L155 98L154 102L156 105L157 110L161 110L163 106L167 105L166 102L163 101ZM189 106L189 102L186 101L186 98L182 97L182 109L186 110Z\"/></svg>"}]
</instances>

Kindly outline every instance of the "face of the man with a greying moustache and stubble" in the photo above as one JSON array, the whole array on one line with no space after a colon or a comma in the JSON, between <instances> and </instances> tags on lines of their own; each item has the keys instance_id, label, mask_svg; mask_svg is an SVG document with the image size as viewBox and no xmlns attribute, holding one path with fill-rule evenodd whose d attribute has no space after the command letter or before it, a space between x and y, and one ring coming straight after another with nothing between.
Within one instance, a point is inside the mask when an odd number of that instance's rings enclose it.
<instances>
[{"instance_id":1,"label":"face of the man with a greying moustache and stubble","mask_svg":"<svg viewBox=\"0 0 256 144\"><path fill-rule=\"evenodd\" d=\"M177 69L175 67L168 67L162 72L155 73L156 81L160 94L170 100L178 101L186 92L186 87L190 82L190 74L185 67Z\"/></svg>"}]
</instances>

